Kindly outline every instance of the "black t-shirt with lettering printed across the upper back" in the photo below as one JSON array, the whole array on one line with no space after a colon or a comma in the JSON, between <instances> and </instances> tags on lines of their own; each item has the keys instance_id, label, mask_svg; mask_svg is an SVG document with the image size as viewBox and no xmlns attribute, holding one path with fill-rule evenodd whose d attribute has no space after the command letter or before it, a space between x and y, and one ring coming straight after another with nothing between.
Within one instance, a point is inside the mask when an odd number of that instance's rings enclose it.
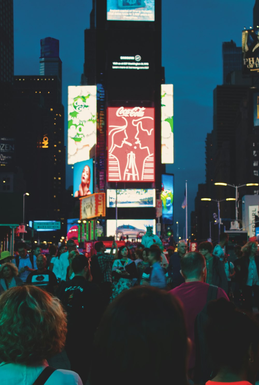
<instances>
[{"instance_id":1,"label":"black t-shirt with lettering printed across the upper back","mask_svg":"<svg viewBox=\"0 0 259 385\"><path fill-rule=\"evenodd\" d=\"M82 276L75 276L61 284L58 297L67 311L68 337L83 338L86 327L93 336L103 312L99 287Z\"/></svg>"}]
</instances>

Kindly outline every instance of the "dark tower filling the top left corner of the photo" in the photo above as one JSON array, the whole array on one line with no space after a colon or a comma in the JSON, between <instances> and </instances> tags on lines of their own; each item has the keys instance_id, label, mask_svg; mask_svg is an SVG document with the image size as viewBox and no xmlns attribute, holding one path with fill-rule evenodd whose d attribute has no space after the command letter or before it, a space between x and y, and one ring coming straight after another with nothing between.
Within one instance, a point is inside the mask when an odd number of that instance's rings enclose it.
<instances>
[{"instance_id":1,"label":"dark tower filling the top left corner of the photo","mask_svg":"<svg viewBox=\"0 0 259 385\"><path fill-rule=\"evenodd\" d=\"M0 0L0 82L13 80L13 0Z\"/></svg>"}]
</instances>

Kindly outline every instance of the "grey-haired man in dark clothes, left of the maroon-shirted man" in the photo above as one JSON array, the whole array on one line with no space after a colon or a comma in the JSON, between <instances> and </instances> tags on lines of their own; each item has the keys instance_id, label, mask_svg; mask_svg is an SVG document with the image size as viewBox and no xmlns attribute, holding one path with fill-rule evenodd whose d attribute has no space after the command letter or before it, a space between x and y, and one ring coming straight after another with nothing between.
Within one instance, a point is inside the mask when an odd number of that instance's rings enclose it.
<instances>
[{"instance_id":1,"label":"grey-haired man in dark clothes, left of the maroon-shirted man","mask_svg":"<svg viewBox=\"0 0 259 385\"><path fill-rule=\"evenodd\" d=\"M177 253L173 253L170 257L168 264L168 277L171 279L170 286L171 288L176 288L184 282L184 278L182 277L180 270L180 260L185 255L187 251L187 244L185 241L179 241L177 246Z\"/></svg>"}]
</instances>

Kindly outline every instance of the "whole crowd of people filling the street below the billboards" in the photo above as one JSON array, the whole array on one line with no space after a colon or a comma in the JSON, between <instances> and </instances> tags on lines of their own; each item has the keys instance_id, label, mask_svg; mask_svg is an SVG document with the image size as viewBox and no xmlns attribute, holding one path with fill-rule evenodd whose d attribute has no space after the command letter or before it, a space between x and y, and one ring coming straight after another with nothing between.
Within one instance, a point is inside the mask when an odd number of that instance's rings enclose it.
<instances>
[{"instance_id":1,"label":"whole crowd of people filling the street below the billboards","mask_svg":"<svg viewBox=\"0 0 259 385\"><path fill-rule=\"evenodd\" d=\"M257 242L229 262L226 233L190 252L152 239L134 252L113 242L109 254L99 241L91 258L71 239L48 255L25 243L15 258L3 251L1 384L254 385ZM63 349L71 371L47 363Z\"/></svg>"}]
</instances>

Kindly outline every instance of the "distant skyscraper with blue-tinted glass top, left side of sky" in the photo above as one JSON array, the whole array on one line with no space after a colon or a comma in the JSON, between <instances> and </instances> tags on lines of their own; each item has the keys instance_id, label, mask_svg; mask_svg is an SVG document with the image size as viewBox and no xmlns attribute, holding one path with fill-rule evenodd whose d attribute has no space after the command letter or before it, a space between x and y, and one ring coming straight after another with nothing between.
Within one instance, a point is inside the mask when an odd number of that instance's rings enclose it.
<instances>
[{"instance_id":1,"label":"distant skyscraper with blue-tinted glass top, left side of sky","mask_svg":"<svg viewBox=\"0 0 259 385\"><path fill-rule=\"evenodd\" d=\"M57 76L60 95L62 92L62 61L59 58L59 40L45 37L40 40L40 76ZM60 99L61 101L61 99Z\"/></svg>"}]
</instances>

